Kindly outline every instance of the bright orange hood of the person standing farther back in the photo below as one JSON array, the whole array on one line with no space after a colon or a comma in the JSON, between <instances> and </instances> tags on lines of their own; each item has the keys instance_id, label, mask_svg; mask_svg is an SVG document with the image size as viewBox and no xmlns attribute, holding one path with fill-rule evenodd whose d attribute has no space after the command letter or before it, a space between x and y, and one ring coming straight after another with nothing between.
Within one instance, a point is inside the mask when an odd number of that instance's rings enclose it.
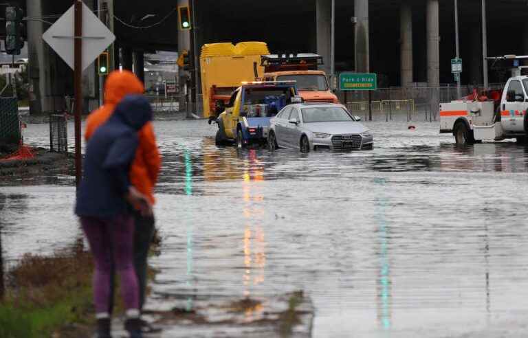
<instances>
[{"instance_id":1,"label":"bright orange hood of the person standing farther back","mask_svg":"<svg viewBox=\"0 0 528 338\"><path fill-rule=\"evenodd\" d=\"M144 91L142 82L131 71L112 71L104 84L104 103L118 104L126 95Z\"/></svg>"}]
</instances>

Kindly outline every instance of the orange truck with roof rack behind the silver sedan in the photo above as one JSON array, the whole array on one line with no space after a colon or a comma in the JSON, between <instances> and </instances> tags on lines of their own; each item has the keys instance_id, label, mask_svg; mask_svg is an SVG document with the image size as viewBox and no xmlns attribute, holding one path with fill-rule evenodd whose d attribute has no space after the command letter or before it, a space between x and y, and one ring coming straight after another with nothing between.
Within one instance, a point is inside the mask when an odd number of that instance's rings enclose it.
<instances>
[{"instance_id":1,"label":"orange truck with roof rack behind the silver sedan","mask_svg":"<svg viewBox=\"0 0 528 338\"><path fill-rule=\"evenodd\" d=\"M317 54L272 54L261 56L265 81L296 81L299 95L305 102L339 103L328 83L322 65L322 56Z\"/></svg>"}]
</instances>

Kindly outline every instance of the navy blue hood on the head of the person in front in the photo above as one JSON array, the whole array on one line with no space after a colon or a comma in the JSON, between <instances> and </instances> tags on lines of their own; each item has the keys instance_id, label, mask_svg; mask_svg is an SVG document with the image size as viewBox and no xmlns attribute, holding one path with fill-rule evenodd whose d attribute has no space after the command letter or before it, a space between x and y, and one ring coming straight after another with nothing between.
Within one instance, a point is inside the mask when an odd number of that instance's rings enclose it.
<instances>
[{"instance_id":1,"label":"navy blue hood on the head of the person in front","mask_svg":"<svg viewBox=\"0 0 528 338\"><path fill-rule=\"evenodd\" d=\"M152 120L152 107L142 95L126 95L115 107L112 117L139 131Z\"/></svg>"}]
</instances>

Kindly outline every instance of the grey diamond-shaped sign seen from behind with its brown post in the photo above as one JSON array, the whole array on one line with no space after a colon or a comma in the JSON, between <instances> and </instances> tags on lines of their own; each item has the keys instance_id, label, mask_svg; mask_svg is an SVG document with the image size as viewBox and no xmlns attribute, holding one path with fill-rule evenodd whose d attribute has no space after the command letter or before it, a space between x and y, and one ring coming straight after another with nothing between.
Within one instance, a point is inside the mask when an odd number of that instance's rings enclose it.
<instances>
[{"instance_id":1,"label":"grey diamond-shaped sign seen from behind with its brown post","mask_svg":"<svg viewBox=\"0 0 528 338\"><path fill-rule=\"evenodd\" d=\"M82 176L80 114L83 111L83 71L113 43L115 36L82 0L74 0L74 5L42 38L74 70L75 178L78 186Z\"/></svg>"}]
</instances>

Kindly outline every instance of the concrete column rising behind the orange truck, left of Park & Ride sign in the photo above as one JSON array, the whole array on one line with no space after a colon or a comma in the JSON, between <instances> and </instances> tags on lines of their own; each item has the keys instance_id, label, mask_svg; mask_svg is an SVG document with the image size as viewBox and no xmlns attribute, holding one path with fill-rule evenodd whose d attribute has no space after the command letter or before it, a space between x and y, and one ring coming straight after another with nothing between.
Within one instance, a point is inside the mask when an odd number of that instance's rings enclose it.
<instances>
[{"instance_id":1,"label":"concrete column rising behind the orange truck, left of Park & Ride sign","mask_svg":"<svg viewBox=\"0 0 528 338\"><path fill-rule=\"evenodd\" d=\"M330 74L331 57L331 0L316 0L317 54L322 56L323 71Z\"/></svg>"}]
</instances>

